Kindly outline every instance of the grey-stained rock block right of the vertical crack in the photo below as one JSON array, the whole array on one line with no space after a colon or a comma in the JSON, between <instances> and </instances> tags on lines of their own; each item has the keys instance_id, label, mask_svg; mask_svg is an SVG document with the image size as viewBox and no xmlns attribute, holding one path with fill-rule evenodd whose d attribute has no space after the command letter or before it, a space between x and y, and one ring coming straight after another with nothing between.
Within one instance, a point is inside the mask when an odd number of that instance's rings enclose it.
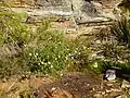
<instances>
[{"instance_id":1,"label":"grey-stained rock block right of the vertical crack","mask_svg":"<svg viewBox=\"0 0 130 98\"><path fill-rule=\"evenodd\" d=\"M86 22L103 22L117 19L119 16L119 10L117 8L120 0L79 0L80 3L76 5L74 14L77 17L78 23Z\"/></svg>"}]
</instances>

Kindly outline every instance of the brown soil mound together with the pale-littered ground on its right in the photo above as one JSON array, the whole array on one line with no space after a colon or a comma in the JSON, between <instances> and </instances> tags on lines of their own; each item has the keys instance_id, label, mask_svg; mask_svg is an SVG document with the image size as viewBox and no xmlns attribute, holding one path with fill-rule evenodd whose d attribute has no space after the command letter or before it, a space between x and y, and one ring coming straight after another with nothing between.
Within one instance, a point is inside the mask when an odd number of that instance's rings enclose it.
<instances>
[{"instance_id":1,"label":"brown soil mound together with the pale-littered ground on its right","mask_svg":"<svg viewBox=\"0 0 130 98\"><path fill-rule=\"evenodd\" d=\"M60 81L41 85L37 98L116 98L123 95L119 82L109 83L92 73L67 73Z\"/></svg>"}]
</instances>

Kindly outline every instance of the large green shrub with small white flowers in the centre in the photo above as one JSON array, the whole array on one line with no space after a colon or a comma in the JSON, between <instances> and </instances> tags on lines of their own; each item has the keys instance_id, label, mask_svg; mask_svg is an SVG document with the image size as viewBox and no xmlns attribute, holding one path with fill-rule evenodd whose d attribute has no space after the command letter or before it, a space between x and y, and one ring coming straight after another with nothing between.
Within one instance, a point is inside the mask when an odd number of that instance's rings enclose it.
<instances>
[{"instance_id":1,"label":"large green shrub with small white flowers in the centre","mask_svg":"<svg viewBox=\"0 0 130 98\"><path fill-rule=\"evenodd\" d=\"M51 21L43 20L32 35L35 42L24 51L24 58L31 72L60 75L63 71L80 71L88 62L86 39L68 39L62 32L50 29ZM74 66L73 66L74 65ZM76 70L76 68L77 70ZM70 70L72 69L72 70Z\"/></svg>"}]
</instances>

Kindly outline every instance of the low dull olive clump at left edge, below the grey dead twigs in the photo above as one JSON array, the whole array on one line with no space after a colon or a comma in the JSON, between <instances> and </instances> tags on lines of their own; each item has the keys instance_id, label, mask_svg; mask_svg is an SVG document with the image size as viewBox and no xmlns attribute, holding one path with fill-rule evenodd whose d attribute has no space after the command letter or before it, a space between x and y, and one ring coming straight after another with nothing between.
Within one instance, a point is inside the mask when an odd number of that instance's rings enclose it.
<instances>
[{"instance_id":1,"label":"low dull olive clump at left edge, below the grey dead twigs","mask_svg":"<svg viewBox=\"0 0 130 98\"><path fill-rule=\"evenodd\" d=\"M10 78L12 75L22 75L28 72L28 66L21 56L2 57L0 59L0 78Z\"/></svg>"}]
</instances>

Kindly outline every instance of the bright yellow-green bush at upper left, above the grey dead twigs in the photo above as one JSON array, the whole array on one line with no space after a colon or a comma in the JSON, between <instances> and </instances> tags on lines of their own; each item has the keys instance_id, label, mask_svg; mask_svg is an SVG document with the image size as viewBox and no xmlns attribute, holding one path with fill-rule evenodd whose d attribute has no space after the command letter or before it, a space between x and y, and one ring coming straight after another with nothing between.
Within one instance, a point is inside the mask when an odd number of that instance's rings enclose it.
<instances>
[{"instance_id":1,"label":"bright yellow-green bush at upper left, above the grey dead twigs","mask_svg":"<svg viewBox=\"0 0 130 98\"><path fill-rule=\"evenodd\" d=\"M27 25L22 23L25 14L17 14L11 9L6 8L6 4L1 3L0 7L0 46L3 44L17 45L22 47L27 42L29 32Z\"/></svg>"}]
</instances>

